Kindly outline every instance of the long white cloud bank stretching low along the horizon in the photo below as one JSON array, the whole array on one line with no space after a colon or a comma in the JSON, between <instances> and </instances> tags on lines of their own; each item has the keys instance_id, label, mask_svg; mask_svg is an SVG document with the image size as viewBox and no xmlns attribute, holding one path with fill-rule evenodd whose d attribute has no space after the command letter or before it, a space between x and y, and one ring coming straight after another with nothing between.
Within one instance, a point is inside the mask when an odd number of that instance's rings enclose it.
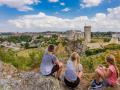
<instances>
[{"instance_id":1,"label":"long white cloud bank stretching low along the horizon","mask_svg":"<svg viewBox=\"0 0 120 90\"><path fill-rule=\"evenodd\" d=\"M97 13L91 18L79 16L73 19L63 19L49 16L43 12L36 15L24 15L8 21L11 25L20 29L64 31L71 29L83 30L85 24L92 26L92 31L119 31L120 30L120 6L109 8L107 14Z\"/></svg>"}]
</instances>

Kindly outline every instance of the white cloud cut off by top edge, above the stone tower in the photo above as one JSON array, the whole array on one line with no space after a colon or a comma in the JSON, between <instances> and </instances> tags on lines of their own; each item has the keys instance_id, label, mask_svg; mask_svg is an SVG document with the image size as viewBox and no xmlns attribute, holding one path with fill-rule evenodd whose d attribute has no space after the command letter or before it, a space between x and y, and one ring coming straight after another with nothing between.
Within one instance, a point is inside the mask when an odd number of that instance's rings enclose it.
<instances>
[{"instance_id":1,"label":"white cloud cut off by top edge, above the stone tower","mask_svg":"<svg viewBox=\"0 0 120 90\"><path fill-rule=\"evenodd\" d=\"M82 8L98 6L102 3L103 0L83 0L80 6Z\"/></svg>"}]
</instances>

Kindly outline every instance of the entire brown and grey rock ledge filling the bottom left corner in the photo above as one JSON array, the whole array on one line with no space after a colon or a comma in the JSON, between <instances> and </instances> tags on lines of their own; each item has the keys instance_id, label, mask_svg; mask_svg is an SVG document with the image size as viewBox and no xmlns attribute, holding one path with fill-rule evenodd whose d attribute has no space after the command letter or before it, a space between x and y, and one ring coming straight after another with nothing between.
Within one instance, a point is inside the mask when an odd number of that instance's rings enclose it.
<instances>
[{"instance_id":1,"label":"entire brown and grey rock ledge filling the bottom left corner","mask_svg":"<svg viewBox=\"0 0 120 90\"><path fill-rule=\"evenodd\" d=\"M35 72L17 73L13 66L1 61L0 75L0 90L70 90L54 77L45 77Z\"/></svg>"}]
</instances>

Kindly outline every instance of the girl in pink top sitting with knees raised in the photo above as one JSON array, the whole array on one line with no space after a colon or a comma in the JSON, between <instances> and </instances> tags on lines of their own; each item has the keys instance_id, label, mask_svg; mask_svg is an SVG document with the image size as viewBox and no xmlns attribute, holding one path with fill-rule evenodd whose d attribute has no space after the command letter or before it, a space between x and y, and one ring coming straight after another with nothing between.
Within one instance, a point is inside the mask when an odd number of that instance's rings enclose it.
<instances>
[{"instance_id":1,"label":"girl in pink top sitting with knees raised","mask_svg":"<svg viewBox=\"0 0 120 90\"><path fill-rule=\"evenodd\" d=\"M119 71L115 63L115 57L113 55L107 55L106 63L108 65L108 68L99 65L95 70L96 78L91 85L93 89L97 89L100 87L109 87L109 86L114 87L117 85ZM100 79L102 79L103 82L100 82Z\"/></svg>"}]
</instances>

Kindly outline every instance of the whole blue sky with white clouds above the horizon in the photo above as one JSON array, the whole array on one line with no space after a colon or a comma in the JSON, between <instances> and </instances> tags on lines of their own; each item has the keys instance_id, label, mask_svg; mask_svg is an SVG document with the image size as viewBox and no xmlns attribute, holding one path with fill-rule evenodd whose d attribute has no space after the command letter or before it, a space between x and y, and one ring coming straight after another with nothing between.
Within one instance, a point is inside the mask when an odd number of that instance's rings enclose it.
<instances>
[{"instance_id":1,"label":"whole blue sky with white clouds above the horizon","mask_svg":"<svg viewBox=\"0 0 120 90\"><path fill-rule=\"evenodd\" d=\"M0 0L0 32L120 32L120 0Z\"/></svg>"}]
</instances>

